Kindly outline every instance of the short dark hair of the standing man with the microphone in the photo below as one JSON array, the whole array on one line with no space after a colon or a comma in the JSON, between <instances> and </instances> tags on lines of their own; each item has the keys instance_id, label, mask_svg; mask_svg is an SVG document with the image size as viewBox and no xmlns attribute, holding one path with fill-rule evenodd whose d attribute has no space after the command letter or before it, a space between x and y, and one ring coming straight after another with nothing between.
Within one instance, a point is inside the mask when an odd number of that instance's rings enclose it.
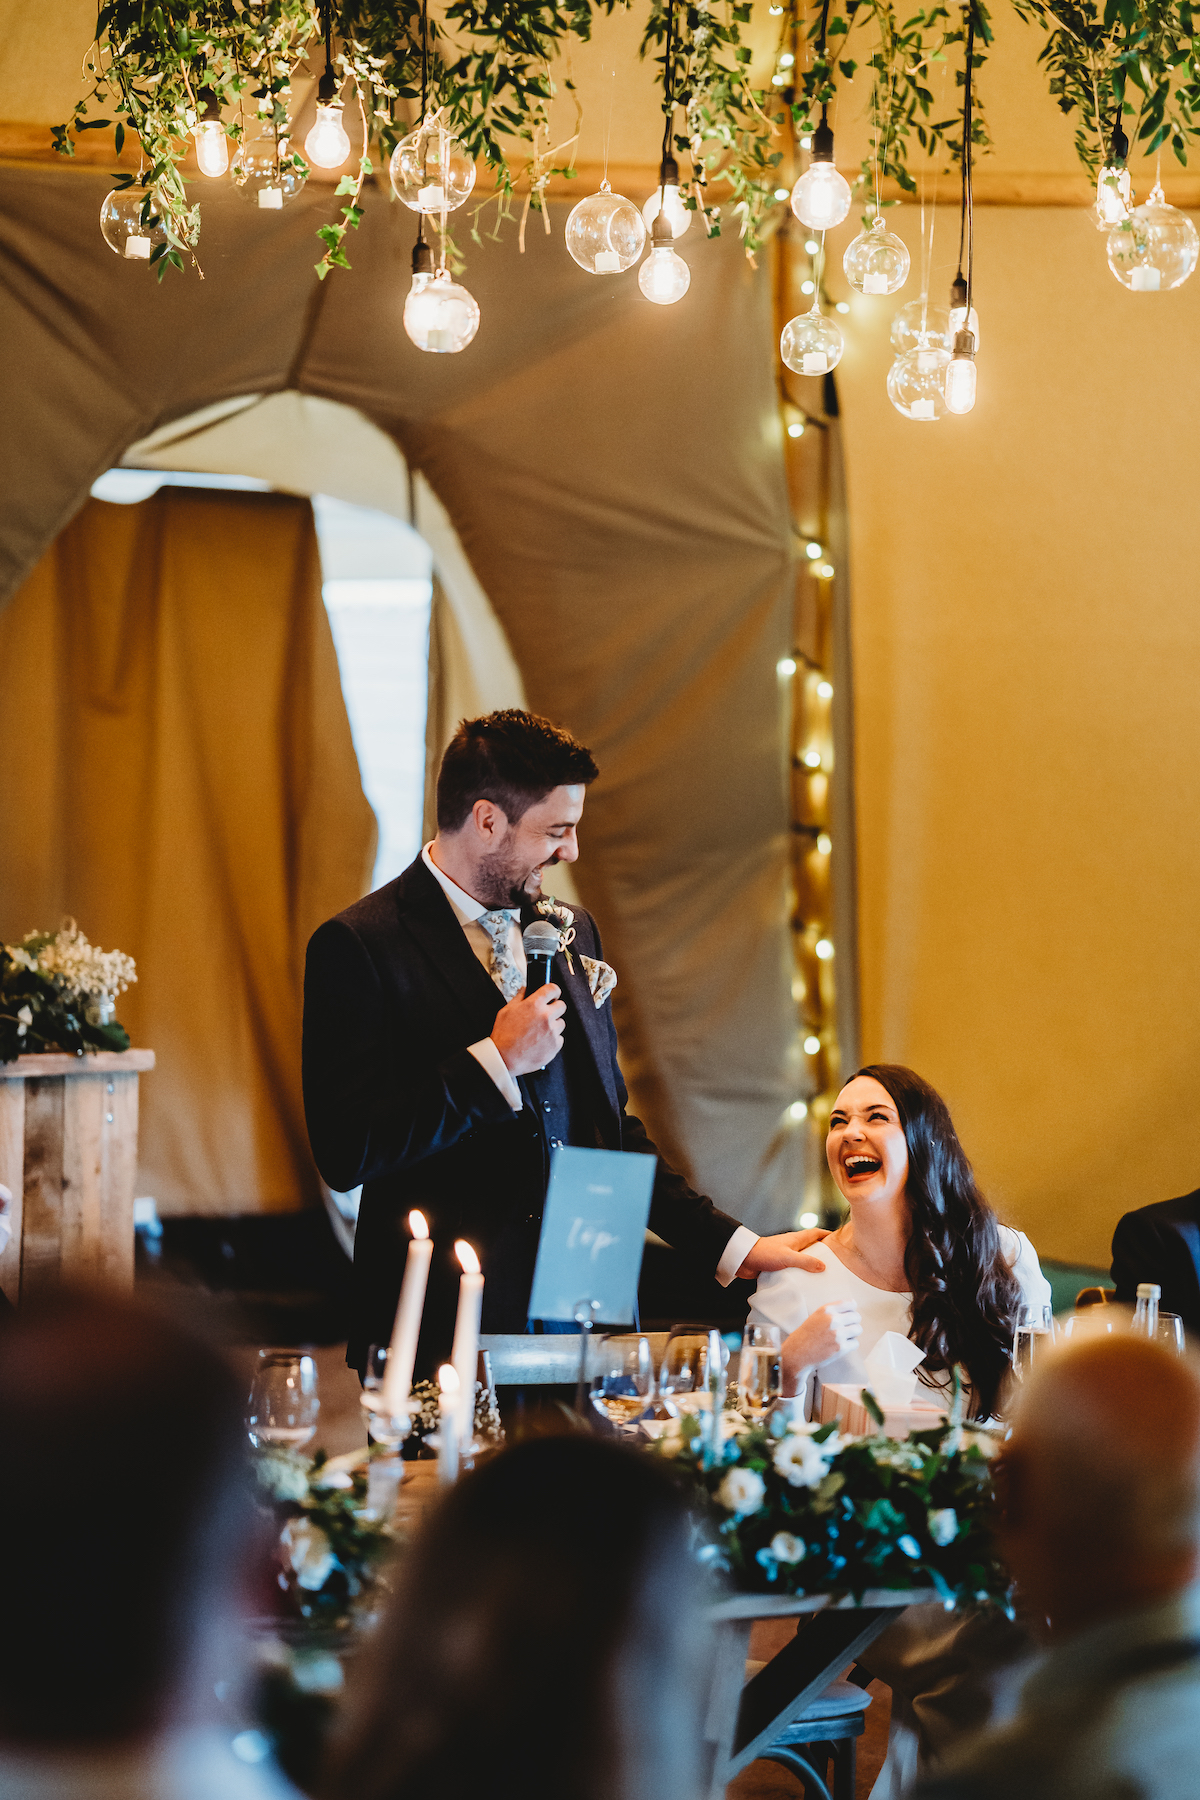
<instances>
[{"instance_id":1,"label":"short dark hair of the standing man with the microphone","mask_svg":"<svg viewBox=\"0 0 1200 1800\"><path fill-rule=\"evenodd\" d=\"M477 799L489 799L516 824L556 787L587 787L599 769L569 731L509 707L462 718L437 774L437 830L457 832Z\"/></svg>"}]
</instances>

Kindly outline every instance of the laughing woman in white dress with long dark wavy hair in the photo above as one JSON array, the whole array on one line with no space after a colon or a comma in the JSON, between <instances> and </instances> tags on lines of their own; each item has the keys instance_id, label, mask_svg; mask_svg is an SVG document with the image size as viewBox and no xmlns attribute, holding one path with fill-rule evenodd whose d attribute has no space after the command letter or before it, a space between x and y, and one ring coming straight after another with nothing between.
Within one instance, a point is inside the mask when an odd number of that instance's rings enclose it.
<instances>
[{"instance_id":1,"label":"laughing woman in white dress with long dark wavy hair","mask_svg":"<svg viewBox=\"0 0 1200 1800\"><path fill-rule=\"evenodd\" d=\"M871 1064L837 1096L826 1138L849 1217L819 1246L824 1269L759 1276L756 1325L784 1336L784 1393L819 1413L817 1381L867 1384L864 1357L900 1332L925 1352L919 1379L946 1388L961 1363L970 1411L997 1409L1013 1330L1051 1283L1024 1231L982 1197L945 1100L912 1069Z\"/></svg>"}]
</instances>

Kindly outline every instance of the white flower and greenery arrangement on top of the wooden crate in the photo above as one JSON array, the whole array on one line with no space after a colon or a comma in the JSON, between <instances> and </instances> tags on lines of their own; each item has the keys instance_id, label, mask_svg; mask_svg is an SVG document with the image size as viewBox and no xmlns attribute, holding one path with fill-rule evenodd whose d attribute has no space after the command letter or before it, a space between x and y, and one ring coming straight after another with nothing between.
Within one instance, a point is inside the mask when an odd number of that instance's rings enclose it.
<instances>
[{"instance_id":1,"label":"white flower and greenery arrangement on top of the wooden crate","mask_svg":"<svg viewBox=\"0 0 1200 1800\"><path fill-rule=\"evenodd\" d=\"M0 943L0 1062L63 1049L128 1049L113 1017L117 995L137 981L122 950L97 950L74 918L56 932L31 931Z\"/></svg>"}]
</instances>

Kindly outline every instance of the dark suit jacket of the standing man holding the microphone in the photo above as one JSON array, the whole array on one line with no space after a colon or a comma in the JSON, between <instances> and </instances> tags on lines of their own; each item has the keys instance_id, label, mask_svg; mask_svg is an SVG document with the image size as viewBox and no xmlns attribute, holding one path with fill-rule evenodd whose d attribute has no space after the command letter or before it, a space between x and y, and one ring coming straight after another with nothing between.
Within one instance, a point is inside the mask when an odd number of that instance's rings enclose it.
<instances>
[{"instance_id":1,"label":"dark suit jacket of the standing man holding the microphone","mask_svg":"<svg viewBox=\"0 0 1200 1800\"><path fill-rule=\"evenodd\" d=\"M536 916L536 914L529 914ZM585 1094L576 1116L608 1150L657 1154L626 1112L612 1006L592 1001L579 952L601 958L588 913L576 909L572 963L554 959L567 1033ZM304 970L304 1114L317 1168L347 1192L363 1184L354 1238L354 1321L347 1361L387 1343L419 1208L435 1240L417 1372L450 1355L457 1237L479 1249L484 1330L525 1328L549 1145L542 1114L515 1114L468 1044L491 1033L504 1004L425 862L320 925ZM579 1082L576 1080L576 1087ZM720 1213L662 1159L649 1224L707 1274L738 1220Z\"/></svg>"}]
</instances>

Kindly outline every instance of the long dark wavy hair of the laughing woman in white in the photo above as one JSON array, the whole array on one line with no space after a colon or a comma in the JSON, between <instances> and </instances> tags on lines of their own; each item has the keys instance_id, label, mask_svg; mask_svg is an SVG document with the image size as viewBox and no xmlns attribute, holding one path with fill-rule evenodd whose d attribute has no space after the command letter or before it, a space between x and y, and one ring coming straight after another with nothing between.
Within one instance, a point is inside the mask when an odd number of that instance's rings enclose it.
<instances>
[{"instance_id":1,"label":"long dark wavy hair of the laughing woman in white","mask_svg":"<svg viewBox=\"0 0 1200 1800\"><path fill-rule=\"evenodd\" d=\"M979 1192L941 1094L896 1062L873 1062L851 1080L860 1075L892 1096L909 1145L909 1336L925 1350L925 1368L964 1364L973 1411L988 1418L1009 1368L1020 1314L1020 1285L1000 1246L1000 1220Z\"/></svg>"}]
</instances>

